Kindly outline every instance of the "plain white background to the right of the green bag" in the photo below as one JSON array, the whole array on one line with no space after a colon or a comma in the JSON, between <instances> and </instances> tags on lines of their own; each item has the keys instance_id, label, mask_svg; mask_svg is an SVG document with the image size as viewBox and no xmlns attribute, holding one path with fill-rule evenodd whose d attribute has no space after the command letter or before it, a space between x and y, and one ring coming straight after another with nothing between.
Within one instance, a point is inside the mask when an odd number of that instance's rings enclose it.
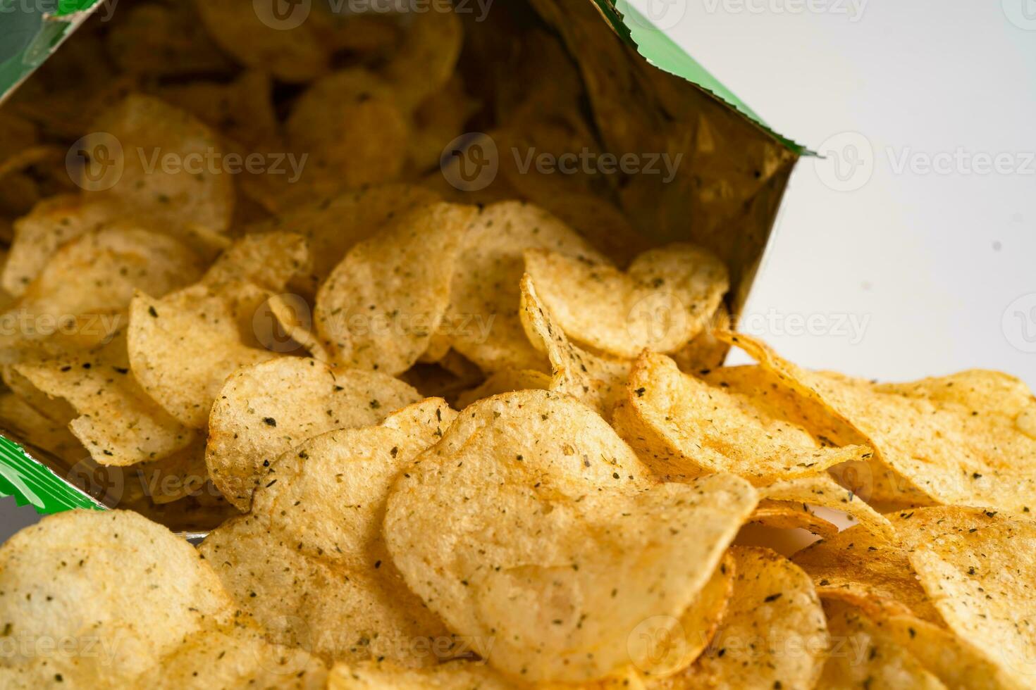
<instances>
[{"instance_id":1,"label":"plain white background to the right of the green bag","mask_svg":"<svg viewBox=\"0 0 1036 690\"><path fill-rule=\"evenodd\" d=\"M799 163L744 330L811 367L1036 388L1036 0L632 4L829 155Z\"/></svg>"}]
</instances>

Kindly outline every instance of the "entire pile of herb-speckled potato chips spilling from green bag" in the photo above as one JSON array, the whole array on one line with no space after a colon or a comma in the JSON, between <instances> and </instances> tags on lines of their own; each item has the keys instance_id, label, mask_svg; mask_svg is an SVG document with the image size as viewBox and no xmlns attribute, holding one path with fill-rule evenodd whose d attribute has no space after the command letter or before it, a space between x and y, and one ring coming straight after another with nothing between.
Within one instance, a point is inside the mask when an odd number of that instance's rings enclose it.
<instances>
[{"instance_id":1,"label":"entire pile of herb-speckled potato chips spilling from green bag","mask_svg":"<svg viewBox=\"0 0 1036 690\"><path fill-rule=\"evenodd\" d=\"M3 687L1036 685L1023 383L802 369L607 180L449 184L457 13L254 4L0 110L0 421L119 508L0 547ZM593 140L555 77L486 136Z\"/></svg>"}]
</instances>

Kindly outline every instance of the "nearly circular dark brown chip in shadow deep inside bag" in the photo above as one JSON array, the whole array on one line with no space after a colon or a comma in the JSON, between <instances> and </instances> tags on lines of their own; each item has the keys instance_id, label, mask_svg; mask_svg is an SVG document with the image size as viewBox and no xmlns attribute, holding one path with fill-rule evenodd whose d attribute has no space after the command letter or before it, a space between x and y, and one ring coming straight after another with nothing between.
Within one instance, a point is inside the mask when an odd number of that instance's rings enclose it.
<instances>
[{"instance_id":1,"label":"nearly circular dark brown chip in shadow deep inside bag","mask_svg":"<svg viewBox=\"0 0 1036 690\"><path fill-rule=\"evenodd\" d=\"M392 182L406 161L406 113L387 84L362 69L316 81L295 102L285 128L291 150L308 154L304 181L332 178L344 191Z\"/></svg>"}]
</instances>

